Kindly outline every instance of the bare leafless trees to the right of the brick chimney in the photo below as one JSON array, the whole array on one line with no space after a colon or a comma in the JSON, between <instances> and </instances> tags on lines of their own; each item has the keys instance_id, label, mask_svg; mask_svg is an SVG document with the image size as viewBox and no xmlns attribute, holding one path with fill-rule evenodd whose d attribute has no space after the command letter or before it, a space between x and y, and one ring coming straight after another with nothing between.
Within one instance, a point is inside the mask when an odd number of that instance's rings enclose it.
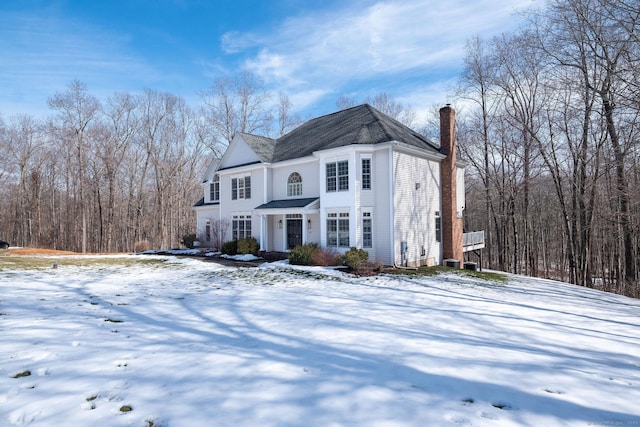
<instances>
[{"instance_id":1,"label":"bare leafless trees to the right of the brick chimney","mask_svg":"<svg viewBox=\"0 0 640 427\"><path fill-rule=\"evenodd\" d=\"M492 267L639 297L640 8L550 0L527 17L467 45L467 226Z\"/></svg>"}]
</instances>

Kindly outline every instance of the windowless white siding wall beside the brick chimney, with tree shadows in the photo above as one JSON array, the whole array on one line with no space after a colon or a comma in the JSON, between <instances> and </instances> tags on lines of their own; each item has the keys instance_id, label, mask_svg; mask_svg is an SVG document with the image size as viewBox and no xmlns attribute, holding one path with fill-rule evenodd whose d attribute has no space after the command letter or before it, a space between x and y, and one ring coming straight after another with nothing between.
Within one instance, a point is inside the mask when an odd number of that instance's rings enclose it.
<instances>
[{"instance_id":1,"label":"windowless white siding wall beside the brick chimney, with tree shadows","mask_svg":"<svg viewBox=\"0 0 640 427\"><path fill-rule=\"evenodd\" d=\"M440 260L435 238L435 213L440 211L440 164L394 151L394 262L400 265L401 242L407 242L409 266ZM424 248L424 254L423 254Z\"/></svg>"}]
</instances>

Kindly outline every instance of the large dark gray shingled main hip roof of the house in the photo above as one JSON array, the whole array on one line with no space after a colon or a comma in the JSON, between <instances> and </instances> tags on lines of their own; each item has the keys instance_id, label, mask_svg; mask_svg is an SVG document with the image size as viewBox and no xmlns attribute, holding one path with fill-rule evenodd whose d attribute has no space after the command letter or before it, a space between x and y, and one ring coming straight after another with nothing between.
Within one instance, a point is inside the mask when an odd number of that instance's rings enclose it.
<instances>
[{"instance_id":1,"label":"large dark gray shingled main hip roof of the house","mask_svg":"<svg viewBox=\"0 0 640 427\"><path fill-rule=\"evenodd\" d=\"M397 120L368 104L309 120L275 144L272 162L296 159L314 151L352 144L380 144L398 141L427 151L436 145Z\"/></svg>"}]
</instances>

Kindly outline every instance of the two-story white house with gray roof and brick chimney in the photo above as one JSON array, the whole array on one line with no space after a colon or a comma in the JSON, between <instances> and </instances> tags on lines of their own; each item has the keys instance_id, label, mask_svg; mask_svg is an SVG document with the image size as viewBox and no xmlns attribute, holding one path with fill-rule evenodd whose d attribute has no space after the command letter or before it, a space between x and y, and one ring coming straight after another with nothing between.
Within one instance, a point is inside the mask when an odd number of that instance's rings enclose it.
<instances>
[{"instance_id":1,"label":"two-story white house with gray roof and brick chimney","mask_svg":"<svg viewBox=\"0 0 640 427\"><path fill-rule=\"evenodd\" d=\"M278 139L237 134L194 206L201 245L252 236L265 251L317 243L386 265L461 262L464 167L449 105L440 125L438 146L365 104Z\"/></svg>"}]
</instances>

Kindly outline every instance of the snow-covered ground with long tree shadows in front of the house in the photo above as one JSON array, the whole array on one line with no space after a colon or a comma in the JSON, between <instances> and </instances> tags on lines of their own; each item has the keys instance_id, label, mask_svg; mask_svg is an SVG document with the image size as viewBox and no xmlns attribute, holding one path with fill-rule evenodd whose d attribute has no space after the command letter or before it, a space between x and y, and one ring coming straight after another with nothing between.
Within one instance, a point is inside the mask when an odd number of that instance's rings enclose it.
<instances>
[{"instance_id":1,"label":"snow-covered ground with long tree shadows in front of the house","mask_svg":"<svg viewBox=\"0 0 640 427\"><path fill-rule=\"evenodd\" d=\"M637 300L131 258L0 271L1 426L640 425Z\"/></svg>"}]
</instances>

